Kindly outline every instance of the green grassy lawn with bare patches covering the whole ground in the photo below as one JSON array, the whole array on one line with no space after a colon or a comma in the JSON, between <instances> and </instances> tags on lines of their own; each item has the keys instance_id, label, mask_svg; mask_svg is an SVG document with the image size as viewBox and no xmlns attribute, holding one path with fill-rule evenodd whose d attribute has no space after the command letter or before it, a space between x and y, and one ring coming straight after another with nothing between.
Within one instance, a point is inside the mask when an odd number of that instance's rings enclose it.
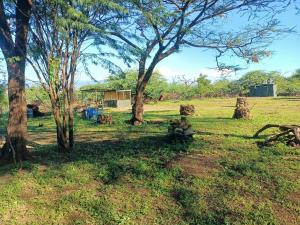
<instances>
[{"instance_id":1,"label":"green grassy lawn with bare patches covering the whole ground","mask_svg":"<svg viewBox=\"0 0 300 225\"><path fill-rule=\"evenodd\" d=\"M0 167L0 224L300 224L300 149L252 138L300 124L300 99L249 98L251 120L231 119L235 100L148 104L139 127L129 111L113 125L78 116L71 155L56 152L51 117L30 119L35 159ZM192 143L165 137L180 104L196 106Z\"/></svg>"}]
</instances>

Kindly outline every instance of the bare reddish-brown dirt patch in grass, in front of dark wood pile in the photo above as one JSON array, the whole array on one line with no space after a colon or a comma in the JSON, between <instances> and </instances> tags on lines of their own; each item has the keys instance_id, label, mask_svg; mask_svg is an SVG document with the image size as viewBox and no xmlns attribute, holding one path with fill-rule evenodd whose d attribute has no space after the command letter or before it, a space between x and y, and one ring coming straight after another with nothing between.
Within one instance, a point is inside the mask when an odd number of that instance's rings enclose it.
<instances>
[{"instance_id":1,"label":"bare reddish-brown dirt patch in grass, in front of dark wood pile","mask_svg":"<svg viewBox=\"0 0 300 225\"><path fill-rule=\"evenodd\" d=\"M181 156L168 163L167 167L181 167L185 173L200 178L214 175L221 169L218 164L219 154L191 154Z\"/></svg>"}]
</instances>

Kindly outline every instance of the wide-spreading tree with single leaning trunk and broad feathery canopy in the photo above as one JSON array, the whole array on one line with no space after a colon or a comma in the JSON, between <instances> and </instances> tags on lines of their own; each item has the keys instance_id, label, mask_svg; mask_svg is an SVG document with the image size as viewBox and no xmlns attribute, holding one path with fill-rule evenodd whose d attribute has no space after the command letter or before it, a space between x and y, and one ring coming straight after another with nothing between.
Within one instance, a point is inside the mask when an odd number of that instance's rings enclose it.
<instances>
[{"instance_id":1,"label":"wide-spreading tree with single leaning trunk and broad feathery canopy","mask_svg":"<svg viewBox=\"0 0 300 225\"><path fill-rule=\"evenodd\" d=\"M120 27L110 33L115 41L127 46L122 49L138 62L132 124L143 122L144 91L159 62L184 47L215 50L217 65L223 69L219 58L224 54L257 62L270 54L265 51L266 46L279 31L273 16L284 3L284 0L124 2L128 13L120 19ZM224 23L233 14L248 16L244 28L233 29Z\"/></svg>"}]
</instances>

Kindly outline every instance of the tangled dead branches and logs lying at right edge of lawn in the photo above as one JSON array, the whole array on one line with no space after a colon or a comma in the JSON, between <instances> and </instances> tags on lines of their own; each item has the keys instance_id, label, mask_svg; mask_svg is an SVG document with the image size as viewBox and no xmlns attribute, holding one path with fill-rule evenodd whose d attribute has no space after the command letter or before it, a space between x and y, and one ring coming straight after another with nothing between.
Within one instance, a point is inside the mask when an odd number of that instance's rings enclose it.
<instances>
[{"instance_id":1,"label":"tangled dead branches and logs lying at right edge of lawn","mask_svg":"<svg viewBox=\"0 0 300 225\"><path fill-rule=\"evenodd\" d=\"M260 133L270 128L278 128L280 133L269 136L263 143L262 146L267 146L279 141L280 139L285 141L288 146L300 147L300 126L299 125L277 125L267 124L266 126L259 129L255 134L254 138L257 138Z\"/></svg>"}]
</instances>

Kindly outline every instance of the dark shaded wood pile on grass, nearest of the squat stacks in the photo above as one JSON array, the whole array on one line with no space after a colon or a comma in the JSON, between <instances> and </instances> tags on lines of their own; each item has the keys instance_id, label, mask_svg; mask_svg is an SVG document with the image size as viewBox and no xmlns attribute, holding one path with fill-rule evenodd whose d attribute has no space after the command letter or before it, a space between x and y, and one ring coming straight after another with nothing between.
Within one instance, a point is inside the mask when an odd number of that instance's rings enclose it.
<instances>
[{"instance_id":1,"label":"dark shaded wood pile on grass, nearest of the squat stacks","mask_svg":"<svg viewBox=\"0 0 300 225\"><path fill-rule=\"evenodd\" d=\"M192 129L192 125L188 123L186 117L180 120L172 120L168 128L168 135L173 140L185 141L193 138L196 132Z\"/></svg>"}]
</instances>

